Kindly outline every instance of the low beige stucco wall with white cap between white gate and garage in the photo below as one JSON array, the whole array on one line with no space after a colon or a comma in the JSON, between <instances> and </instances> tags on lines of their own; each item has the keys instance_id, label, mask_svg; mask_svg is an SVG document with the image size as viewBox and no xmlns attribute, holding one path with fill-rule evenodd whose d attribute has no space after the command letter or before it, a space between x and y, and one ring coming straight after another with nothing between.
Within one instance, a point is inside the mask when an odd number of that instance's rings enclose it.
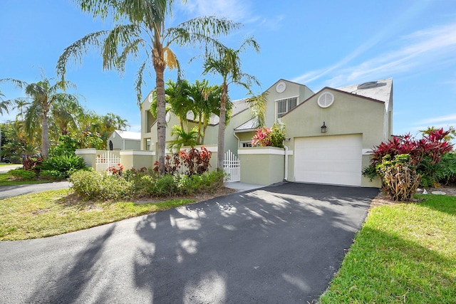
<instances>
[{"instance_id":1,"label":"low beige stucco wall with white cap between white gate and garage","mask_svg":"<svg viewBox=\"0 0 456 304\"><path fill-rule=\"evenodd\" d=\"M241 182L269 185L284 180L284 149L276 147L239 148Z\"/></svg>"}]
</instances>

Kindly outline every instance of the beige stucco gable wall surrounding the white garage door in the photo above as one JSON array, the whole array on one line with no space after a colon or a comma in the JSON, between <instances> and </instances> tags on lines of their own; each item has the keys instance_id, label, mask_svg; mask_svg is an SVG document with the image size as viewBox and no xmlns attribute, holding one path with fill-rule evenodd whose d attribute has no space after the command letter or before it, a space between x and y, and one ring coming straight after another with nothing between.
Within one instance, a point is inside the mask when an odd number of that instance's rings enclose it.
<instances>
[{"instance_id":1,"label":"beige stucco gable wall surrounding the white garage door","mask_svg":"<svg viewBox=\"0 0 456 304\"><path fill-rule=\"evenodd\" d=\"M334 95L334 103L328 108L320 108L318 97L323 92ZM299 105L282 117L286 127L286 142L291 153L294 153L296 137L331 136L361 134L363 137L362 167L370 162L368 151L384 140L385 105L373 100L361 98L337 90L323 90L305 103ZM321 133L321 125L326 123L327 132ZM294 157L289 157L289 181L294 181ZM362 187L380 187L378 180L369 182L361 178Z\"/></svg>"}]
</instances>

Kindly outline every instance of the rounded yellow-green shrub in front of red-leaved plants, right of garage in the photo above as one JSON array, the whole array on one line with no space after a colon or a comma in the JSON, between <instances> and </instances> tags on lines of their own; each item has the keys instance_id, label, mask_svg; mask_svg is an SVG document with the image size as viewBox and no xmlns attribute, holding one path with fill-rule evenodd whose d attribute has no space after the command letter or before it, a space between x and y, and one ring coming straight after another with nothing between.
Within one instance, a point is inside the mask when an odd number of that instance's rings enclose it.
<instances>
[{"instance_id":1,"label":"rounded yellow-green shrub in front of red-leaved plants, right of garage","mask_svg":"<svg viewBox=\"0 0 456 304\"><path fill-rule=\"evenodd\" d=\"M421 176L411 164L409 154L398 154L393 159L390 155L385 155L377 165L377 172L382 178L385 191L395 201L410 201L420 184Z\"/></svg>"}]
</instances>

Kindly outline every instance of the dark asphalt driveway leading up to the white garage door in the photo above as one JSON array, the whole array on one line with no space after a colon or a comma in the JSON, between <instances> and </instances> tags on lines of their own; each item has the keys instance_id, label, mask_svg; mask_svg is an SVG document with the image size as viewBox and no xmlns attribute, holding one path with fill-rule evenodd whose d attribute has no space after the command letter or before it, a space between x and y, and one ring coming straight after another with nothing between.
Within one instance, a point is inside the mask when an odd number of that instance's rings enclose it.
<instances>
[{"instance_id":1,"label":"dark asphalt driveway leading up to the white garage door","mask_svg":"<svg viewBox=\"0 0 456 304\"><path fill-rule=\"evenodd\" d=\"M0 302L311 302L338 271L376 194L285 183L0 242Z\"/></svg>"}]
</instances>

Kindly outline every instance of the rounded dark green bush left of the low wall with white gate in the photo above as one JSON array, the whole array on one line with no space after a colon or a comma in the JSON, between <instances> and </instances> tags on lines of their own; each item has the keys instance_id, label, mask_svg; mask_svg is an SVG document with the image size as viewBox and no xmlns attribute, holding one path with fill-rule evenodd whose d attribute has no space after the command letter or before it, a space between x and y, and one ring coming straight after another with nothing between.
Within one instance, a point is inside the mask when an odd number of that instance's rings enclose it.
<instances>
[{"instance_id":1,"label":"rounded dark green bush left of the low wall with white gate","mask_svg":"<svg viewBox=\"0 0 456 304\"><path fill-rule=\"evenodd\" d=\"M51 177L51 179L66 179L85 167L84 159L75 154L56 155L43 160L41 176L44 174L44 177Z\"/></svg>"}]
</instances>

